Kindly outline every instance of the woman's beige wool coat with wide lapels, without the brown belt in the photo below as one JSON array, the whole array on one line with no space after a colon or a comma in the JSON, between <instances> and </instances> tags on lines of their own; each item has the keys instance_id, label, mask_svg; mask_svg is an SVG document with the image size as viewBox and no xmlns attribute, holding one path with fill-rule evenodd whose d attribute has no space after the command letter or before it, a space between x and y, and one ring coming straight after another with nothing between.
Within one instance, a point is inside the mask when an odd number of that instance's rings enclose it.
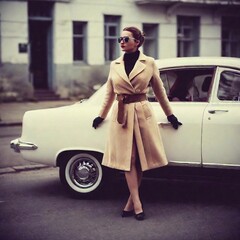
<instances>
[{"instance_id":1,"label":"woman's beige wool coat with wide lapels, without the brown belt","mask_svg":"<svg viewBox=\"0 0 240 240\"><path fill-rule=\"evenodd\" d=\"M125 72L123 56L111 63L106 95L99 114L106 118L113 104L103 165L130 171L133 136L136 139L142 171L167 165L157 121L148 101L124 104L125 124L123 126L117 122L116 94L147 93L149 83L166 116L171 115L172 110L153 58L140 53L129 77Z\"/></svg>"}]
</instances>

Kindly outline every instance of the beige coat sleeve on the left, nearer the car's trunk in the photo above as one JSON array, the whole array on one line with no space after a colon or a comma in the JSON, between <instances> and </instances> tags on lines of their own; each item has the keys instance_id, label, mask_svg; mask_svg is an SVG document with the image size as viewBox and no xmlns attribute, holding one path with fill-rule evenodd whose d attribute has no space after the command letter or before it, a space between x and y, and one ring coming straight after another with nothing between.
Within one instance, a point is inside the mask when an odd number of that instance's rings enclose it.
<instances>
[{"instance_id":1,"label":"beige coat sleeve on the left, nearer the car's trunk","mask_svg":"<svg viewBox=\"0 0 240 240\"><path fill-rule=\"evenodd\" d=\"M114 93L114 88L113 88L112 78L111 78L111 66L110 66L110 71L109 71L109 75L108 75L108 80L106 83L105 98L104 98L103 105L102 105L102 108L99 113L99 117L101 117L101 118L107 117L107 114L108 114L108 112L113 104L113 101L115 99L115 93Z\"/></svg>"}]
</instances>

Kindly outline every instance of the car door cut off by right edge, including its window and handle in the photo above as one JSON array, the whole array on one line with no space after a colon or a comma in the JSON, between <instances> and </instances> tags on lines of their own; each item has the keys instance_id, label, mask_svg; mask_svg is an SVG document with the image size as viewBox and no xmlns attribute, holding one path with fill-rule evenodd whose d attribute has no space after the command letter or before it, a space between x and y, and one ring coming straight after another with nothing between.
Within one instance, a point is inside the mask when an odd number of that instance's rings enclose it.
<instances>
[{"instance_id":1,"label":"car door cut off by right edge, including its window and handle","mask_svg":"<svg viewBox=\"0 0 240 240\"><path fill-rule=\"evenodd\" d=\"M219 67L203 117L203 165L240 166L240 71Z\"/></svg>"}]
</instances>

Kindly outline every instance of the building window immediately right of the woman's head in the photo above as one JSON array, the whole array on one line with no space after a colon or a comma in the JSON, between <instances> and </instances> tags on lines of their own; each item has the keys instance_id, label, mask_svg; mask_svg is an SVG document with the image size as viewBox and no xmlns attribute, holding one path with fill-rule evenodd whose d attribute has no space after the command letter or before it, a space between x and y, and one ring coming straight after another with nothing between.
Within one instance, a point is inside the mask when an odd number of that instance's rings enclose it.
<instances>
[{"instance_id":1,"label":"building window immediately right of the woman's head","mask_svg":"<svg viewBox=\"0 0 240 240\"><path fill-rule=\"evenodd\" d=\"M143 51L146 55L158 58L158 24L143 24L146 34Z\"/></svg>"}]
</instances>

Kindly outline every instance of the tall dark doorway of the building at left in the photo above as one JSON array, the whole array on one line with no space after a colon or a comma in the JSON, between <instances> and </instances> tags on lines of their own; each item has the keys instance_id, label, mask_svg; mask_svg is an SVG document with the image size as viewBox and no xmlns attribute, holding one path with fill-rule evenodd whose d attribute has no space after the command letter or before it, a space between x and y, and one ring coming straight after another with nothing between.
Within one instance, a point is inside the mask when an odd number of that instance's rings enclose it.
<instances>
[{"instance_id":1,"label":"tall dark doorway of the building at left","mask_svg":"<svg viewBox=\"0 0 240 240\"><path fill-rule=\"evenodd\" d=\"M30 73L34 89L49 88L51 21L29 21Z\"/></svg>"}]
</instances>

